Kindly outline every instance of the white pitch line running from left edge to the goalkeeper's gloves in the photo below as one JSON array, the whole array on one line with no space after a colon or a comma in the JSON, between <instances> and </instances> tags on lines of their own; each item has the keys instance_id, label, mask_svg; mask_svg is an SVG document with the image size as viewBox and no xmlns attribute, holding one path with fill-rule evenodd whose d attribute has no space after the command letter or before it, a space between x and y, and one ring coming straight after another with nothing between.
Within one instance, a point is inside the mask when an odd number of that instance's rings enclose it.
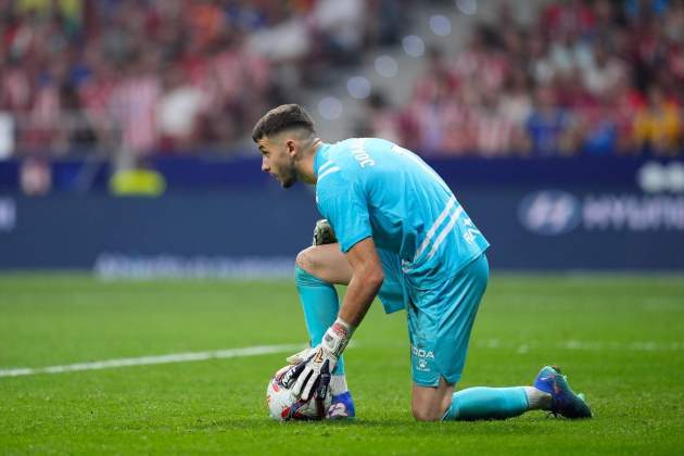
<instances>
[{"instance_id":1,"label":"white pitch line running from left edge to the goalkeeper's gloves","mask_svg":"<svg viewBox=\"0 0 684 456\"><path fill-rule=\"evenodd\" d=\"M246 356L268 355L274 353L296 352L305 349L302 344L288 345L259 345L243 349L216 350L213 352L174 353L160 356L141 356L137 358L106 359L92 363L67 364L49 367L18 367L13 369L0 369L0 377L34 376L37 373L63 373L78 370L112 369L128 366L149 366L154 364L188 363L206 359L242 358Z\"/></svg>"}]
</instances>

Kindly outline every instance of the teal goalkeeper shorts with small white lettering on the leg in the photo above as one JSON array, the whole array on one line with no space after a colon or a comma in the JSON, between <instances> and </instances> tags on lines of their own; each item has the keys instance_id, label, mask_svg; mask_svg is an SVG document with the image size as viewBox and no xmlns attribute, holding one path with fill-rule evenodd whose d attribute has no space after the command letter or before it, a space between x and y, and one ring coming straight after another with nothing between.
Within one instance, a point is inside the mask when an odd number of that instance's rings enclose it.
<instances>
[{"instance_id":1,"label":"teal goalkeeper shorts with small white lettering on the leg","mask_svg":"<svg viewBox=\"0 0 684 456\"><path fill-rule=\"evenodd\" d=\"M414 382L436 387L444 377L447 383L457 383L490 277L486 256L478 256L438 288L417 290L406 284L398 257L379 254L385 278L378 295L385 312L407 309Z\"/></svg>"}]
</instances>

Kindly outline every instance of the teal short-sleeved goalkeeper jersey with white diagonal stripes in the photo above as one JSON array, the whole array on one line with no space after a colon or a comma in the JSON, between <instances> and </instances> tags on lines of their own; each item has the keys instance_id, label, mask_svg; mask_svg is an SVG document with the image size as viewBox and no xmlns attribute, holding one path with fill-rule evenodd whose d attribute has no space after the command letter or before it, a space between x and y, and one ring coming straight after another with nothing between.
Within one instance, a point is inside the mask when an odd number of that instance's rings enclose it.
<instances>
[{"instance_id":1,"label":"teal short-sleeved goalkeeper jersey with white diagonal stripes","mask_svg":"<svg viewBox=\"0 0 684 456\"><path fill-rule=\"evenodd\" d=\"M489 242L442 178L390 141L352 138L318 148L316 203L342 252L372 237L398 255L414 287L432 288L480 256Z\"/></svg>"}]
</instances>

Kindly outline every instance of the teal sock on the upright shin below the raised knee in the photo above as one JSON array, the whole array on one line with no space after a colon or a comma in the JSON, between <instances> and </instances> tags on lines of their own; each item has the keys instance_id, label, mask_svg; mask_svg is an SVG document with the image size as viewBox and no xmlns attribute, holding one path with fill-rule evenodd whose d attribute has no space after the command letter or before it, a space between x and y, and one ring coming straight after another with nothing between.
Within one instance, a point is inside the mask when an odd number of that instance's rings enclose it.
<instances>
[{"instance_id":1,"label":"teal sock on the upright shin below the raised knee","mask_svg":"<svg viewBox=\"0 0 684 456\"><path fill-rule=\"evenodd\" d=\"M294 267L294 283L304 311L304 320L312 346L318 345L330 325L338 318L340 302L334 287L312 276L299 266ZM344 375L344 359L340 356L335 376Z\"/></svg>"}]
</instances>

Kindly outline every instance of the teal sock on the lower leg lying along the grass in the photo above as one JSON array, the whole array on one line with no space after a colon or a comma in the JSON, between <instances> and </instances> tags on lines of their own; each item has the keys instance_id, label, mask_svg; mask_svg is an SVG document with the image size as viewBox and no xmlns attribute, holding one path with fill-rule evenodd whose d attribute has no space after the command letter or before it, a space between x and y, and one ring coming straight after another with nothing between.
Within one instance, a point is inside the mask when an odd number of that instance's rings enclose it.
<instances>
[{"instance_id":1,"label":"teal sock on the lower leg lying along the grass","mask_svg":"<svg viewBox=\"0 0 684 456\"><path fill-rule=\"evenodd\" d=\"M477 387L454 393L444 420L505 419L529 409L524 387Z\"/></svg>"}]
</instances>

